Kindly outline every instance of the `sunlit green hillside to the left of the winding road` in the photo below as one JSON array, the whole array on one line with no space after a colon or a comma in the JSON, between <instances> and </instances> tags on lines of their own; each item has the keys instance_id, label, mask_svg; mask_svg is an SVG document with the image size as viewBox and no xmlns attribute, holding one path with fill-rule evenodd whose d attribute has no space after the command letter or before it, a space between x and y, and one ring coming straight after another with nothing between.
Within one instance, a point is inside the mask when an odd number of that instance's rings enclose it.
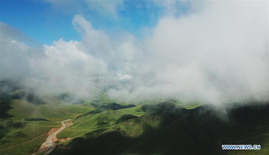
<instances>
[{"instance_id":1,"label":"sunlit green hillside to the left of the winding road","mask_svg":"<svg viewBox=\"0 0 269 155\"><path fill-rule=\"evenodd\" d=\"M26 154L33 154L45 141L44 136L40 139L42 134L52 127L61 126L62 120L93 110L88 106L68 104L44 96L42 100L50 104L38 105L19 99L0 100L0 150L17 145L0 151L0 154L21 154L20 149L25 150ZM35 144L33 141L22 144L33 138L36 138L33 140Z\"/></svg>"}]
</instances>

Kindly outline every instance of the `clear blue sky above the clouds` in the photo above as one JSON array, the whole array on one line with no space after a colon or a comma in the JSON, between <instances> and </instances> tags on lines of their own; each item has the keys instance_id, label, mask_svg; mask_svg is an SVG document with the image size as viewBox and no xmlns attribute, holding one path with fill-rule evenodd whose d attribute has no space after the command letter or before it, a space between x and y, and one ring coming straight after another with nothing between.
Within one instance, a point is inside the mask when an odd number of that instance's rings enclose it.
<instances>
[{"instance_id":1,"label":"clear blue sky above the clouds","mask_svg":"<svg viewBox=\"0 0 269 155\"><path fill-rule=\"evenodd\" d=\"M188 4L177 1L1 1L1 21L19 29L39 44L54 40L81 40L72 25L74 15L83 15L95 29L113 36L129 32L138 40L167 13L169 5L177 5L173 15L186 13ZM115 4L114 7L111 4ZM106 5L106 6L104 6ZM111 7L112 6L112 7ZM109 11L104 11L109 10Z\"/></svg>"}]
</instances>

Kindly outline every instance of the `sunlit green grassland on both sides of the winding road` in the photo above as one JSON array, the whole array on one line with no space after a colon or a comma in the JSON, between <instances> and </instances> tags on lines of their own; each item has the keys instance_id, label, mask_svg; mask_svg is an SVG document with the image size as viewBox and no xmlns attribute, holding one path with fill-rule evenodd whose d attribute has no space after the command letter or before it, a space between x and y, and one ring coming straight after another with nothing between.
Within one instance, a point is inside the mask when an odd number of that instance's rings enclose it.
<instances>
[{"instance_id":1,"label":"sunlit green grassland on both sides of the winding road","mask_svg":"<svg viewBox=\"0 0 269 155\"><path fill-rule=\"evenodd\" d=\"M10 94L16 95L23 92L29 91L19 89ZM22 151L26 154L34 153L45 141L44 134L51 128L59 127L61 121L68 118L74 120L74 129L65 129L59 133L58 137L83 137L90 133L94 137L99 133L99 130L92 130L94 128L111 126L136 117L108 109L93 118L91 115L83 115L96 109L89 104L74 105L48 96L33 95L44 104L21 99L0 100L0 150L15 145L0 151L1 154L21 154ZM78 116L81 117L76 120ZM48 121L27 121L35 119ZM81 124L76 125L79 123Z\"/></svg>"}]
</instances>

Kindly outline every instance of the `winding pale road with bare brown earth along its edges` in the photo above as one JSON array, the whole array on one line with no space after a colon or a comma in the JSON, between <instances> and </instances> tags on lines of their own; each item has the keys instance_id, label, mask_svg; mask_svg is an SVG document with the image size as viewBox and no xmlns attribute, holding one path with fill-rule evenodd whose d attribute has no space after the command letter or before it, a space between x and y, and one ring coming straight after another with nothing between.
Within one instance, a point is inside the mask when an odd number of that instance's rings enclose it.
<instances>
[{"instance_id":1,"label":"winding pale road with bare brown earth along its edges","mask_svg":"<svg viewBox=\"0 0 269 155\"><path fill-rule=\"evenodd\" d=\"M71 119L68 120L63 120L62 121L62 126L59 128L52 128L49 132L48 132L48 138L45 141L45 143L43 143L41 145L41 147L39 148L39 150L37 151L37 153L39 152L43 152L48 150L44 155L49 154L52 149L54 148L55 145L55 141L57 141L56 135L62 131L63 129L65 129L65 127L71 126L73 125L73 123L71 122Z\"/></svg>"}]
</instances>

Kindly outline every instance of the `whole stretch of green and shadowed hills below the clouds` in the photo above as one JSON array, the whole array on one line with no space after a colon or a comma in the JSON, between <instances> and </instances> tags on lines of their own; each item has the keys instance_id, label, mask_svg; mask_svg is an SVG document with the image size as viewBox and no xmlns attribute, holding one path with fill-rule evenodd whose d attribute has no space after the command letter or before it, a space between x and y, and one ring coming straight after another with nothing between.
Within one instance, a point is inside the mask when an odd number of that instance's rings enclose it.
<instances>
[{"instance_id":1,"label":"whole stretch of green and shadowed hills below the clouds","mask_svg":"<svg viewBox=\"0 0 269 155\"><path fill-rule=\"evenodd\" d=\"M16 90L0 102L1 154L252 154L256 150L222 151L221 144L258 142L258 151L268 152L268 102L186 108L102 99L71 104L35 93L34 100L12 98L23 92L33 93Z\"/></svg>"}]
</instances>

